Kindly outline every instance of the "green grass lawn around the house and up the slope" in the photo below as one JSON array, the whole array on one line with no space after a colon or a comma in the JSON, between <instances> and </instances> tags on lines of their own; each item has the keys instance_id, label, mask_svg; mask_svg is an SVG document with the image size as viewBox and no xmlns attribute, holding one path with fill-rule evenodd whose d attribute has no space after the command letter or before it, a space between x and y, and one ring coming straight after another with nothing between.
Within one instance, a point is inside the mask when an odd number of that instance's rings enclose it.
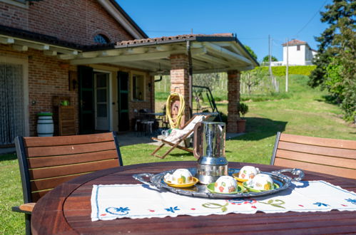
<instances>
[{"instance_id":1,"label":"green grass lawn around the house and up the slope","mask_svg":"<svg viewBox=\"0 0 356 235\"><path fill-rule=\"evenodd\" d=\"M284 88L284 77L278 80L280 88ZM326 93L313 90L306 83L306 76L291 75L288 93L280 93L277 97L270 93L257 95L259 100L255 100L252 95L246 99L245 103L249 106L249 113L245 117L247 132L226 141L226 157L229 162L269 164L278 131L344 140L356 139L355 125L349 125L341 119L340 109L325 101ZM165 103L167 96L161 95L156 106ZM217 105L220 111L227 113L226 102ZM155 147L146 144L123 146L123 163L128 165L195 160L193 155L183 150L173 150L171 155L161 160L148 154ZM0 155L0 175L0 234L24 234L24 215L11 212L12 206L22 202L16 155Z\"/></svg>"}]
</instances>

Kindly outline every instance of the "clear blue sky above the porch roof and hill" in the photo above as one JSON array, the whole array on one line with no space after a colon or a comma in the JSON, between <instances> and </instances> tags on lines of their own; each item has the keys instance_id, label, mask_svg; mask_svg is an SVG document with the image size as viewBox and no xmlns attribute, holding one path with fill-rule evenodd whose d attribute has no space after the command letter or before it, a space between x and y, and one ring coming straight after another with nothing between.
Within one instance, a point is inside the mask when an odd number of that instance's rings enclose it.
<instances>
[{"instance_id":1,"label":"clear blue sky above the porch roof and hill","mask_svg":"<svg viewBox=\"0 0 356 235\"><path fill-rule=\"evenodd\" d=\"M306 41L317 50L315 36L327 28L320 22L320 9L332 0L116 0L149 37L193 33L236 33L250 46L258 61L272 54L283 59L286 38Z\"/></svg>"}]
</instances>

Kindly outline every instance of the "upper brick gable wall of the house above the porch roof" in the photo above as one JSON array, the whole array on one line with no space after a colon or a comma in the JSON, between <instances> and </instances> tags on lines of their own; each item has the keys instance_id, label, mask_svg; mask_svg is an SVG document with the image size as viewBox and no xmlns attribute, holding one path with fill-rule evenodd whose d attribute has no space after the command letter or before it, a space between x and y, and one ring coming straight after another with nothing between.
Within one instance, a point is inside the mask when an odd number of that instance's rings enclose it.
<instances>
[{"instance_id":1,"label":"upper brick gable wall of the house above the porch roof","mask_svg":"<svg viewBox=\"0 0 356 235\"><path fill-rule=\"evenodd\" d=\"M96 0L46 0L28 9L0 2L0 22L86 45L95 44L93 37L98 33L111 42L133 39Z\"/></svg>"}]
</instances>

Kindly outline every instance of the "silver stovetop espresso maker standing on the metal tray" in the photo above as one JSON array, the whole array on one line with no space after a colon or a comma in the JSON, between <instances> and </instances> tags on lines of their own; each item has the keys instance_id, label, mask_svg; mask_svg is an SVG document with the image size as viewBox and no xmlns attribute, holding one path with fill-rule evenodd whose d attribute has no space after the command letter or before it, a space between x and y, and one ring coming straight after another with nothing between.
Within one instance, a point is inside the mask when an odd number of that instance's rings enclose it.
<instances>
[{"instance_id":1,"label":"silver stovetop espresso maker standing on the metal tray","mask_svg":"<svg viewBox=\"0 0 356 235\"><path fill-rule=\"evenodd\" d=\"M198 158L195 177L200 184L210 184L228 175L224 122L198 122L194 127L193 144L194 157Z\"/></svg>"}]
</instances>

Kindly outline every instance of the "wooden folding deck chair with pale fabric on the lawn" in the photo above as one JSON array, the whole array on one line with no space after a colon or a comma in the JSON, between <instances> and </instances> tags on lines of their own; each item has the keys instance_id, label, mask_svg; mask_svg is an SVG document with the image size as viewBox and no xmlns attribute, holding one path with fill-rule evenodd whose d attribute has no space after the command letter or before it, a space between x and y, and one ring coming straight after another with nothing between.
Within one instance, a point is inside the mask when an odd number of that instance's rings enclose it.
<instances>
[{"instance_id":1,"label":"wooden folding deck chair with pale fabric on the lawn","mask_svg":"<svg viewBox=\"0 0 356 235\"><path fill-rule=\"evenodd\" d=\"M159 145L156 148L156 150L154 150L151 153L151 155L163 159L166 157L166 155L168 155L176 147L178 147L180 150L185 150L187 152L193 153L193 150L190 150L186 145L185 145L185 147L180 146L180 143L183 140L186 140L188 137L190 137L190 135L193 134L193 129L194 129L196 123L202 122L204 120L212 121L213 119L215 119L215 115L197 114L197 115L194 115L192 118L190 118L190 120L183 126L182 129L173 129L171 134L168 135L168 137L166 137L164 139L158 139L156 137L152 137L152 140L161 142L161 145ZM161 150L161 148L164 145L170 145L171 148L167 152L165 152L162 156L160 156L156 152L158 152L158 150Z\"/></svg>"}]
</instances>

